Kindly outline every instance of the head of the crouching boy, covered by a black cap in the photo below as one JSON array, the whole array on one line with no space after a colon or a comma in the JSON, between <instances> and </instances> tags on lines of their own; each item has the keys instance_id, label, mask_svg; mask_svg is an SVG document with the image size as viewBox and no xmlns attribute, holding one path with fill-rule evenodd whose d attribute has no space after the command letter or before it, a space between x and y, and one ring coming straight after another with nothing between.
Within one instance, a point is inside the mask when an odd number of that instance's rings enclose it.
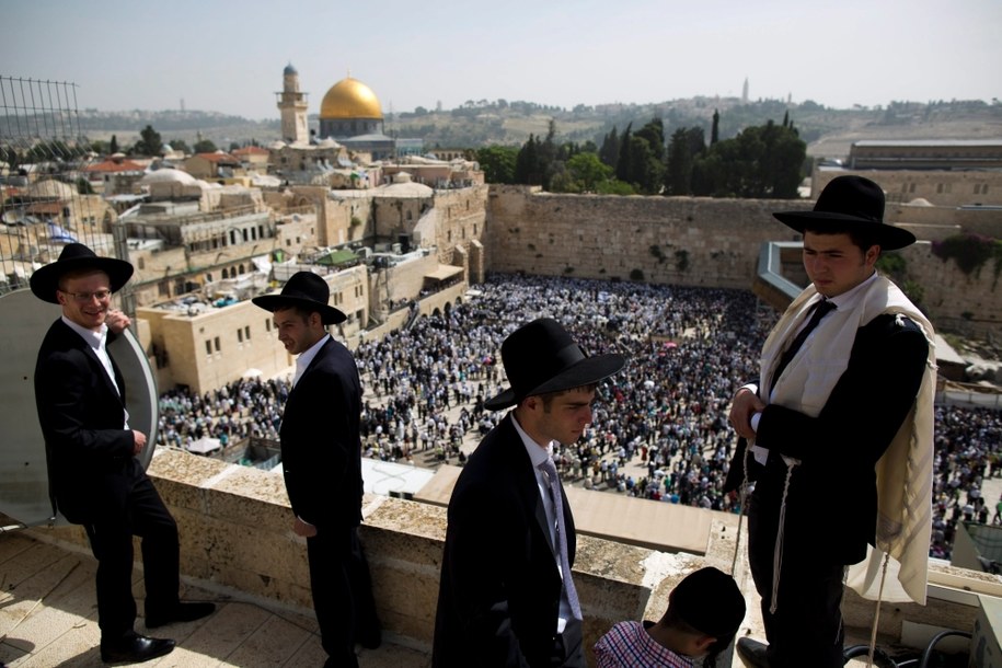
<instances>
[{"instance_id":1,"label":"head of the crouching boy, covered by a black cap","mask_svg":"<svg viewBox=\"0 0 1002 668\"><path fill-rule=\"evenodd\" d=\"M745 597L734 578L707 566L690 573L668 597L663 624L691 634L700 655L716 655L745 619Z\"/></svg>"}]
</instances>

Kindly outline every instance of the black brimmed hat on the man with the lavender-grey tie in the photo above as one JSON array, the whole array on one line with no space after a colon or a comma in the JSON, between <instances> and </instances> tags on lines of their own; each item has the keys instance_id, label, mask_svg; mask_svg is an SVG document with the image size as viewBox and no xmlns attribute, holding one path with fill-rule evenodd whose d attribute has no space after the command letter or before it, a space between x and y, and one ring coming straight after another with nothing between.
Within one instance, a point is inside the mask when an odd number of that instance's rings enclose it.
<instances>
[{"instance_id":1,"label":"black brimmed hat on the man with the lavender-grey tie","mask_svg":"<svg viewBox=\"0 0 1002 668\"><path fill-rule=\"evenodd\" d=\"M502 360L511 387L484 402L488 411L514 406L527 396L598 382L626 364L617 354L588 357L551 318L533 320L512 332L502 344Z\"/></svg>"}]
</instances>

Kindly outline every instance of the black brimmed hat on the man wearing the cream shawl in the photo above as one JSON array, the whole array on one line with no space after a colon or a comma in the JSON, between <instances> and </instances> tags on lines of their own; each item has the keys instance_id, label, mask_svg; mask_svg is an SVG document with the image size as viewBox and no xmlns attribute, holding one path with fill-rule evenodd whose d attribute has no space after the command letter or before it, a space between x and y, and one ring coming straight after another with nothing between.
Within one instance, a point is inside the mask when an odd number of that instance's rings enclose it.
<instances>
[{"instance_id":1,"label":"black brimmed hat on the man wearing the cream shawl","mask_svg":"<svg viewBox=\"0 0 1002 668\"><path fill-rule=\"evenodd\" d=\"M773 216L802 234L805 228L819 231L829 226L859 229L874 234L885 251L903 249L915 242L915 235L908 230L884 222L884 191L862 176L832 178L811 211L779 211Z\"/></svg>"}]
</instances>

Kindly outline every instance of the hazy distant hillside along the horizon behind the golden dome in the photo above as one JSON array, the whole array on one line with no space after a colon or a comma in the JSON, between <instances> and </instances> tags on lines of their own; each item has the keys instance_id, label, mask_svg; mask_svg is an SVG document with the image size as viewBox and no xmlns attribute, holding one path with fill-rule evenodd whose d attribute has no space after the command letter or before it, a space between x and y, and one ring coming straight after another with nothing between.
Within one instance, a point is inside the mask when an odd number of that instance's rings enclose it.
<instances>
[{"instance_id":1,"label":"hazy distant hillside along the horizon behind the golden dome","mask_svg":"<svg viewBox=\"0 0 1002 668\"><path fill-rule=\"evenodd\" d=\"M700 96L650 104L577 105L567 110L532 102L505 100L468 101L453 110L388 114L388 135L419 137L430 152L436 148L521 147L532 136L545 138L553 128L554 142L600 147L615 129L642 128L659 119L667 141L680 129L702 130L710 138L718 114L717 139L733 139L749 127L787 118L806 143L808 157L844 158L853 141L861 139L999 139L1002 138L1002 104L998 101L890 102L886 106L836 110L811 101L787 103L758 100L742 103L738 97ZM0 115L0 122L3 117ZM201 111L79 112L80 133L92 142L111 142L127 148L141 141L140 133L152 127L164 143L193 147L201 141L220 148L267 146L279 139L280 125L273 120L249 120ZM38 119L39 127L46 125ZM318 127L315 115L310 126Z\"/></svg>"}]
</instances>

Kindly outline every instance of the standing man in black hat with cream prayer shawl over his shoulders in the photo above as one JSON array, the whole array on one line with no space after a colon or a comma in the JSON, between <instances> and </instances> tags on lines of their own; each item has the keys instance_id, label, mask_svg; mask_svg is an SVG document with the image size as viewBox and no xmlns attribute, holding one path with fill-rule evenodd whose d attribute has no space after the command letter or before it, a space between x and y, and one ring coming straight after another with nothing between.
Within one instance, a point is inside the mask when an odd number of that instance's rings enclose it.
<instances>
[{"instance_id":1,"label":"standing man in black hat with cream prayer shawl over his shoulders","mask_svg":"<svg viewBox=\"0 0 1002 668\"><path fill-rule=\"evenodd\" d=\"M769 641L739 638L738 654L827 668L843 665L843 578L867 545L892 556L901 587L924 602L934 334L874 268L882 251L915 240L884 222L877 184L839 176L814 210L774 216L804 234L811 284L730 408L741 439L725 490L755 482L748 555Z\"/></svg>"}]
</instances>

